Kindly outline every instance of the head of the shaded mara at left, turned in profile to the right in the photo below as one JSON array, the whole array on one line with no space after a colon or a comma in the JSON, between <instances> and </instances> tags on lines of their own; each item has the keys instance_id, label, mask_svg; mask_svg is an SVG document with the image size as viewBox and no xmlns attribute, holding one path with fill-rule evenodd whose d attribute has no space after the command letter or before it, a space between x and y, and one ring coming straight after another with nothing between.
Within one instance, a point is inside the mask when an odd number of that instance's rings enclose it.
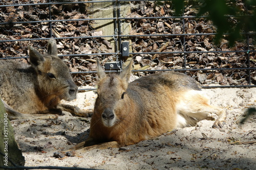
<instances>
[{"instance_id":1,"label":"head of the shaded mara at left, turned in profile to the right","mask_svg":"<svg viewBox=\"0 0 256 170\"><path fill-rule=\"evenodd\" d=\"M54 39L48 42L48 52L40 54L33 47L29 48L29 60L35 69L38 91L53 99L71 101L76 99L78 87L75 85L68 66L57 57L57 45Z\"/></svg>"}]
</instances>

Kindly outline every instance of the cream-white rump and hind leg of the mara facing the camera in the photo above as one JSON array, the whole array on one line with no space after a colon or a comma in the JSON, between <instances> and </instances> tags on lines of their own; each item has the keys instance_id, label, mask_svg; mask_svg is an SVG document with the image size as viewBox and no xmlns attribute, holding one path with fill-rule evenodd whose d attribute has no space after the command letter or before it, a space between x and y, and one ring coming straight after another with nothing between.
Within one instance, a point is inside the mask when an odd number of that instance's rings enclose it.
<instances>
[{"instance_id":1,"label":"cream-white rump and hind leg of the mara facing the camera","mask_svg":"<svg viewBox=\"0 0 256 170\"><path fill-rule=\"evenodd\" d=\"M207 118L209 113L218 115L213 128L220 128L225 123L227 111L209 104L208 97L203 91L189 90L185 92L177 105L178 123L182 126L195 126L197 122ZM182 119L183 118L183 119Z\"/></svg>"}]
</instances>

